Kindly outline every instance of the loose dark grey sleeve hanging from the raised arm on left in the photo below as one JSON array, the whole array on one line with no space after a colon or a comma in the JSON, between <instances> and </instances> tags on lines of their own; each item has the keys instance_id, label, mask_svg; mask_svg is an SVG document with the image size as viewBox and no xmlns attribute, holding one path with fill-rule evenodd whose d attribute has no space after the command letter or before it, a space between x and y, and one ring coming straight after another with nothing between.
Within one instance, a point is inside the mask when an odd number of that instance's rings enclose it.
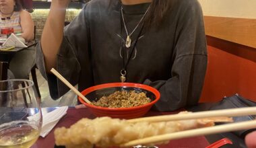
<instances>
[{"instance_id":1,"label":"loose dark grey sleeve hanging from the raised arm on left","mask_svg":"<svg viewBox=\"0 0 256 148\"><path fill-rule=\"evenodd\" d=\"M76 85L79 81L81 71L79 50L88 50L88 23L85 9L86 6L68 26L65 26L63 40L57 54L56 70L72 85ZM36 63L40 73L48 81L50 95L53 99L57 99L69 91L69 87L55 75L46 73L40 42L36 47Z\"/></svg>"}]
</instances>

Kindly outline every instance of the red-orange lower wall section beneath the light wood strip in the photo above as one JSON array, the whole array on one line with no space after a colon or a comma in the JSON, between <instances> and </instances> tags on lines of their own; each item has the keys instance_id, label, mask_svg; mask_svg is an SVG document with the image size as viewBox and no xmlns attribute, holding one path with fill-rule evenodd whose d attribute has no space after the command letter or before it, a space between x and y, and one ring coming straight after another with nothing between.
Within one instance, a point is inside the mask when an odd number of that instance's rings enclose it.
<instances>
[{"instance_id":1,"label":"red-orange lower wall section beneath the light wood strip","mask_svg":"<svg viewBox=\"0 0 256 148\"><path fill-rule=\"evenodd\" d=\"M256 48L207 36L208 65L200 102L240 94L256 102Z\"/></svg>"}]
</instances>

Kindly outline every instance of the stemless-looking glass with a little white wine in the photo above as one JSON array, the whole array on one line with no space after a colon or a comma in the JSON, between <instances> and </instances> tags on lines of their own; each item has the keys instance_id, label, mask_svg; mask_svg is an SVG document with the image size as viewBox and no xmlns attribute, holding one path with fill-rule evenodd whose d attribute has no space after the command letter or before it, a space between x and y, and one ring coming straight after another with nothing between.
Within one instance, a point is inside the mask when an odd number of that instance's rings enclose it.
<instances>
[{"instance_id":1,"label":"stemless-looking glass with a little white wine","mask_svg":"<svg viewBox=\"0 0 256 148\"><path fill-rule=\"evenodd\" d=\"M0 81L0 147L30 147L40 135L42 112L34 82Z\"/></svg>"}]
</instances>

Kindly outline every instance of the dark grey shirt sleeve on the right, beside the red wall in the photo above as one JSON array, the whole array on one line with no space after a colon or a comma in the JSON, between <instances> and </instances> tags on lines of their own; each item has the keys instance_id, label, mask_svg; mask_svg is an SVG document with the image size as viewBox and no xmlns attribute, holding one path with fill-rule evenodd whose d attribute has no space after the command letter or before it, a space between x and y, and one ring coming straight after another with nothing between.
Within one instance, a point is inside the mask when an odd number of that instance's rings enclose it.
<instances>
[{"instance_id":1,"label":"dark grey shirt sleeve on the right, beside the red wall","mask_svg":"<svg viewBox=\"0 0 256 148\"><path fill-rule=\"evenodd\" d=\"M170 111L197 104L201 96L206 67L207 46L201 6L195 0L186 1L179 14L178 34L174 37L174 62L170 79L150 81L161 94L154 109Z\"/></svg>"}]
</instances>

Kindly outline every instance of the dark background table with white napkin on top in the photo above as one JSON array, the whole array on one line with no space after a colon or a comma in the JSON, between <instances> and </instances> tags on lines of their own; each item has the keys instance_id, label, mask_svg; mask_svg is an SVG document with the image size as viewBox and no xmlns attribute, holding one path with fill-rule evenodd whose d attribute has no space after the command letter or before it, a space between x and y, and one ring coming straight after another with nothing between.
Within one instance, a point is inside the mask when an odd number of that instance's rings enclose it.
<instances>
[{"instance_id":1,"label":"dark background table with white napkin on top","mask_svg":"<svg viewBox=\"0 0 256 148\"><path fill-rule=\"evenodd\" d=\"M11 57L17 52L20 52L26 48L30 48L37 44L37 40L32 40L26 44L28 47L15 47L11 50L2 51L0 50L0 80L7 79L7 69L9 65L9 61L11 61ZM6 66L7 65L7 66Z\"/></svg>"}]
</instances>

